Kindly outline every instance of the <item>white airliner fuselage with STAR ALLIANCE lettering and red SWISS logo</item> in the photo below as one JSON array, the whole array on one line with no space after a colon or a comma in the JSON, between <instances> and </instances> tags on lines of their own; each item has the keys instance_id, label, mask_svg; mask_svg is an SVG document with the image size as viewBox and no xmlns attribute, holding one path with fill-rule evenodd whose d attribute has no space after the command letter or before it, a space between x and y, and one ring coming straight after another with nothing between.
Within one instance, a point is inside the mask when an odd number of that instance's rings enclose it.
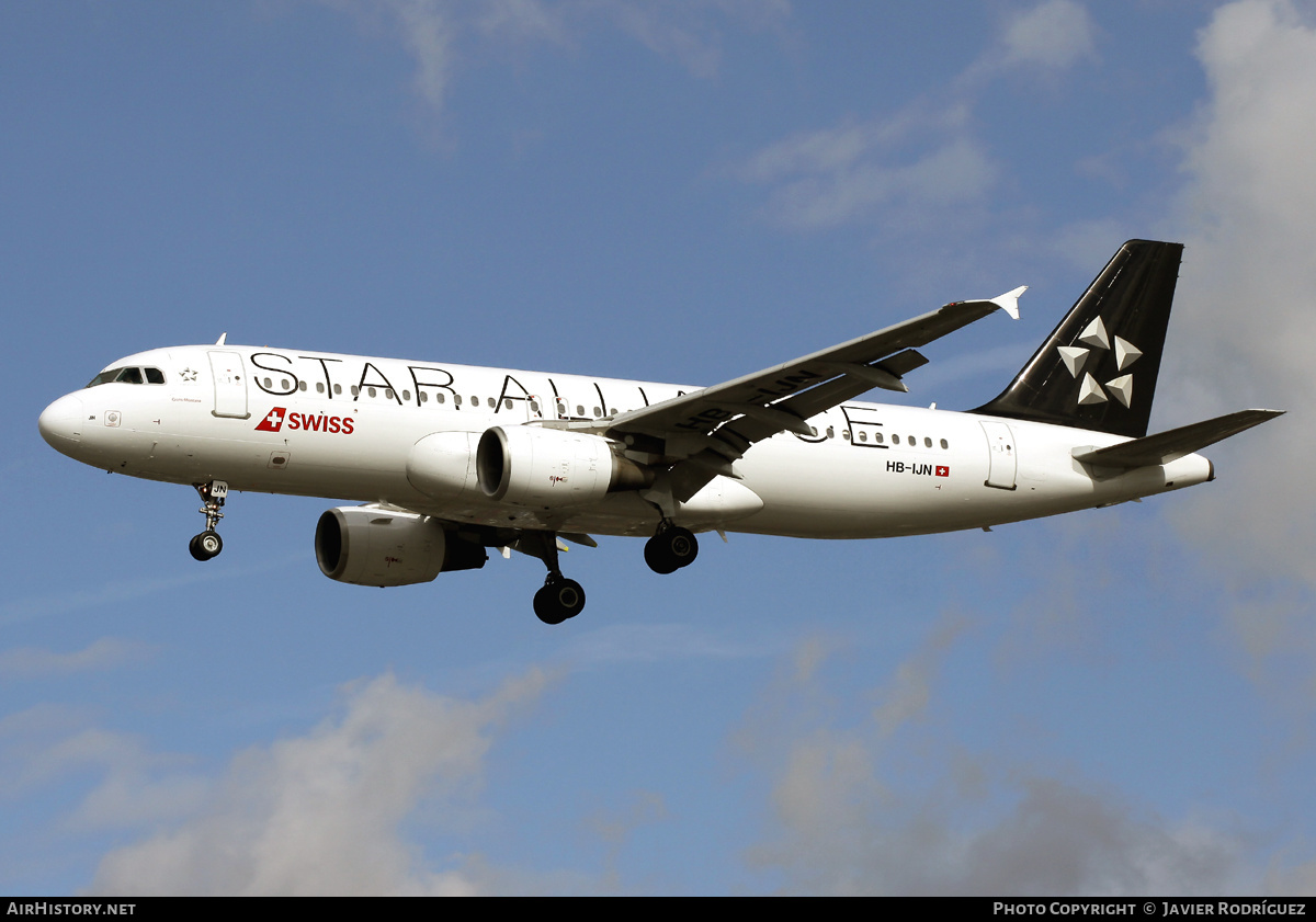
<instances>
[{"instance_id":1,"label":"white airliner fuselage with STAR ALLIANCE lettering and red SWISS logo","mask_svg":"<svg viewBox=\"0 0 1316 922\"><path fill-rule=\"evenodd\" d=\"M111 367L163 383L78 391L42 414L62 452L108 471L179 484L387 502L451 522L650 535L636 491L578 508L513 508L478 491L437 497L408 479L413 446L442 431L595 421L695 391L576 375L247 346L184 346ZM804 538L882 538L982 527L1121 502L1211 479L1188 455L1096 477L1075 449L1117 435L945 410L845 402L736 462L676 517L691 529ZM746 492L747 491L747 492ZM755 498L757 497L757 498Z\"/></svg>"}]
</instances>

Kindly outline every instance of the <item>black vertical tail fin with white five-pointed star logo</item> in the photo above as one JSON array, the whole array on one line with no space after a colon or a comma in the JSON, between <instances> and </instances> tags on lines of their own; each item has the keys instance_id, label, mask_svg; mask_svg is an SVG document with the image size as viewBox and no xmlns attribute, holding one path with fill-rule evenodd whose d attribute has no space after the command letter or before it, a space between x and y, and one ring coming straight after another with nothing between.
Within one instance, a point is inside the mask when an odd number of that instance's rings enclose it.
<instances>
[{"instance_id":1,"label":"black vertical tail fin with white five-pointed star logo","mask_svg":"<svg viewBox=\"0 0 1316 922\"><path fill-rule=\"evenodd\" d=\"M1009 387L973 412L1146 435L1182 255L1182 243L1121 246Z\"/></svg>"}]
</instances>

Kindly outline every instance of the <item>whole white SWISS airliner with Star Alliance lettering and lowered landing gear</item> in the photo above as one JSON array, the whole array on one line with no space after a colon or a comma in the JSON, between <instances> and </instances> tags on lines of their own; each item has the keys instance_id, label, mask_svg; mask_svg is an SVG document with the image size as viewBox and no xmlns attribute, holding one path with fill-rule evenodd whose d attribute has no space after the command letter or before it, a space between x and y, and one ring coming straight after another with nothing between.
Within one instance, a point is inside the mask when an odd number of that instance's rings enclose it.
<instances>
[{"instance_id":1,"label":"whole white SWISS airliner with Star Alliance lettering and lowered landing gear","mask_svg":"<svg viewBox=\"0 0 1316 922\"><path fill-rule=\"evenodd\" d=\"M230 491L332 497L320 570L357 585L475 570L488 550L547 568L541 621L584 608L562 542L646 537L659 573L699 533L888 538L1108 506L1215 479L1199 450L1280 410L1148 435L1183 246L1128 241L1013 381L970 412L865 402L907 391L917 350L1016 288L713 387L232 346L120 359L41 414L55 450L116 473L190 484L224 547Z\"/></svg>"}]
</instances>

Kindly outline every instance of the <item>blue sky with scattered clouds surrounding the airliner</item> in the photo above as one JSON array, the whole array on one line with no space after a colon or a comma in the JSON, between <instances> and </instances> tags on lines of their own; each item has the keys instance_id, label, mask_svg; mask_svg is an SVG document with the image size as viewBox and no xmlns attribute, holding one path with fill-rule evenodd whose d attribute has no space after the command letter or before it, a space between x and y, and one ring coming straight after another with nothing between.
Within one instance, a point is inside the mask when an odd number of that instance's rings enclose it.
<instances>
[{"instance_id":1,"label":"blue sky with scattered clouds surrounding the airliner","mask_svg":"<svg viewBox=\"0 0 1316 922\"><path fill-rule=\"evenodd\" d=\"M0 7L0 892L1316 890L1316 9ZM1153 426L1219 480L884 542L324 579L326 501L57 455L155 346L715 383L1029 284L994 396L1129 237L1187 245ZM17 384L17 387L13 387Z\"/></svg>"}]
</instances>

